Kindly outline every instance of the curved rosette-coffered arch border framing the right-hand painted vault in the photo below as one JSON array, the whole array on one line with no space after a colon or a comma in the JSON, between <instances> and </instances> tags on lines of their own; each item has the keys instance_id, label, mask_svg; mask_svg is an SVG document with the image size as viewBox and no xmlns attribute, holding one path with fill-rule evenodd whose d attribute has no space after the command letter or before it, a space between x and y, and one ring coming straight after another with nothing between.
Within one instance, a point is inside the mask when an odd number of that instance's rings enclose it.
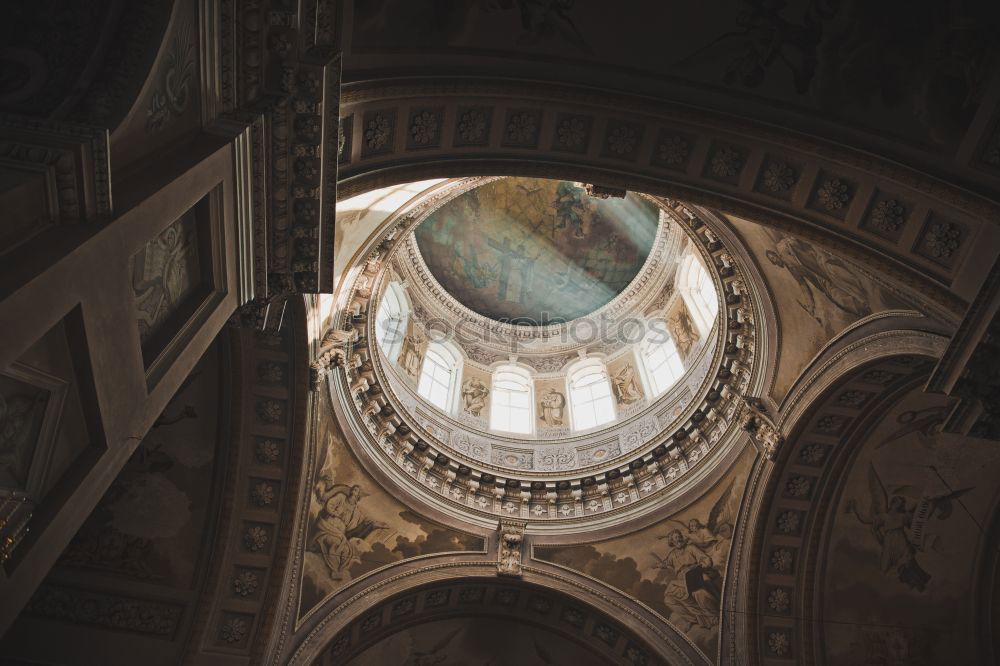
<instances>
[{"instance_id":1,"label":"curved rosette-coffered arch border framing the right-hand painted vault","mask_svg":"<svg viewBox=\"0 0 1000 666\"><path fill-rule=\"evenodd\" d=\"M723 663L747 646L762 664L811 663L818 530L864 422L926 377L946 339L890 330L843 346L796 386L780 418L788 438L775 462L759 459L726 576ZM864 400L856 399L859 396Z\"/></svg>"}]
</instances>

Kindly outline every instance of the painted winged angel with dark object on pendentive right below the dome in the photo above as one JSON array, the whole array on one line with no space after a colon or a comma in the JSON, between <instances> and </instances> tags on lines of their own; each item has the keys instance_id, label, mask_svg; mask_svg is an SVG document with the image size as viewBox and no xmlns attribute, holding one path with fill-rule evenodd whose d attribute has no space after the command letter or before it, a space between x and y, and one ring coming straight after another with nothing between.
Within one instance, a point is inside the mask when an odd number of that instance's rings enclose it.
<instances>
[{"instance_id":1,"label":"painted winged angel with dark object on pendentive right below the dome","mask_svg":"<svg viewBox=\"0 0 1000 666\"><path fill-rule=\"evenodd\" d=\"M708 522L691 518L670 530L665 539L670 549L657 560L657 583L666 583L663 602L673 610L671 619L683 631L691 627L709 629L719 623L722 575L733 536L733 482L712 506ZM686 532L686 533L685 533Z\"/></svg>"}]
</instances>

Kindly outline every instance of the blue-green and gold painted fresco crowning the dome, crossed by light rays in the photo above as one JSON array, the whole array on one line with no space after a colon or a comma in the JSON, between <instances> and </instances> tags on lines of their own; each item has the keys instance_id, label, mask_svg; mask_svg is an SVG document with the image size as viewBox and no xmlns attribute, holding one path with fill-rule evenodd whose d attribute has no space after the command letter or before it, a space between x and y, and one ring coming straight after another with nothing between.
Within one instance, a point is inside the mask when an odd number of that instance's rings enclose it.
<instances>
[{"instance_id":1,"label":"blue-green and gold painted fresco crowning the dome, crossed by light rays","mask_svg":"<svg viewBox=\"0 0 1000 666\"><path fill-rule=\"evenodd\" d=\"M628 194L502 178L465 192L416 229L434 278L470 310L521 325L562 323L610 302L639 273L659 222Z\"/></svg>"}]
</instances>

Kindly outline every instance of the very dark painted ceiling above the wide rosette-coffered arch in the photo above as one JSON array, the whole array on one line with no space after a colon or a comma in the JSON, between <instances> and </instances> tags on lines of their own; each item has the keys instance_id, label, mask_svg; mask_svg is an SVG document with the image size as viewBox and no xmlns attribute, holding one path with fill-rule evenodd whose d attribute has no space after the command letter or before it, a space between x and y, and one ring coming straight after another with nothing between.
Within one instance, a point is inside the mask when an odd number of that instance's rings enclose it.
<instances>
[{"instance_id":1,"label":"very dark painted ceiling above the wide rosette-coffered arch","mask_svg":"<svg viewBox=\"0 0 1000 666\"><path fill-rule=\"evenodd\" d=\"M358 3L354 53L508 58L560 81L637 77L689 100L777 104L941 148L972 121L995 71L998 5L733 0L645 3L643 18L597 0ZM905 17L906 29L899 29ZM507 64L507 71L513 67ZM663 89L663 88L661 88ZM744 109L744 112L751 109Z\"/></svg>"}]
</instances>

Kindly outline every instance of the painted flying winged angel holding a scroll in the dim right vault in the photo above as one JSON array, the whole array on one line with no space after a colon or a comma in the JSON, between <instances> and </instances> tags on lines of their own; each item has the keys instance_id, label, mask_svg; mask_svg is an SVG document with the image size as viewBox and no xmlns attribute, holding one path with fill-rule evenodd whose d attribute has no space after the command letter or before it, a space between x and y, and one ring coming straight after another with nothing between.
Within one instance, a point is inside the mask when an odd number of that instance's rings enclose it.
<instances>
[{"instance_id":1,"label":"painted flying winged angel holding a scroll in the dim right vault","mask_svg":"<svg viewBox=\"0 0 1000 666\"><path fill-rule=\"evenodd\" d=\"M899 582L923 592L931 576L917 561L917 554L926 550L927 524L932 518L947 519L952 512L952 500L957 500L972 488L962 488L942 495L924 495L909 501L902 493L910 486L893 487L886 491L875 465L868 466L869 508L867 513L858 510L858 503L851 499L844 507L860 523L868 526L872 536L882 547L879 569L883 574L895 572ZM936 541L936 540L935 540ZM934 548L935 542L930 547Z\"/></svg>"}]
</instances>

